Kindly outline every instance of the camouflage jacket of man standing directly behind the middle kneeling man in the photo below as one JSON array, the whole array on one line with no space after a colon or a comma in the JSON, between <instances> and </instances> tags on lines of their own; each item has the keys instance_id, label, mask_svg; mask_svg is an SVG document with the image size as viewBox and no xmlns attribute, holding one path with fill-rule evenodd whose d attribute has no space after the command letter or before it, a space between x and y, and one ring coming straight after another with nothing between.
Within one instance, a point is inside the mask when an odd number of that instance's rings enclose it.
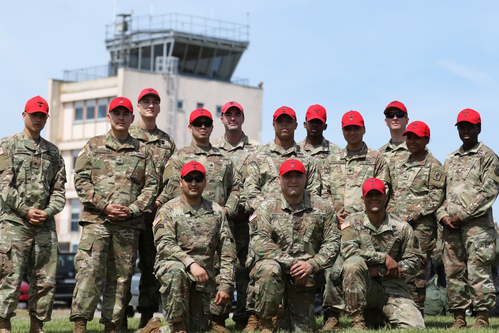
<instances>
[{"instance_id":1,"label":"camouflage jacket of man standing directly behind the middle kneeling man","mask_svg":"<svg viewBox=\"0 0 499 333\"><path fill-rule=\"evenodd\" d=\"M305 166L307 192L320 195L320 175L313 158L296 143L284 149L270 141L258 147L250 156L248 177L244 184L247 211L255 211L263 200L280 193L279 168L282 162L290 158L300 160Z\"/></svg>"}]
</instances>

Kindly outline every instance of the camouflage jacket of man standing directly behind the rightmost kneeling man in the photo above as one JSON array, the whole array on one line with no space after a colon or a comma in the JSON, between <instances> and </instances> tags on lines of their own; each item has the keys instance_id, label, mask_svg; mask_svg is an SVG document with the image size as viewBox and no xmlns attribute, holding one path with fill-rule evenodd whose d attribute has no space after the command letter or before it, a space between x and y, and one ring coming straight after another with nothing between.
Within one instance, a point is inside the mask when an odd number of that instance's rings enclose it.
<instances>
[{"instance_id":1,"label":"camouflage jacket of man standing directly behind the rightmost kneeling man","mask_svg":"<svg viewBox=\"0 0 499 333\"><path fill-rule=\"evenodd\" d=\"M336 214L362 212L362 184L379 178L391 187L390 171L383 155L364 143L358 155L348 156L347 148L329 155L322 165L322 198L329 201ZM389 193L389 192L387 192Z\"/></svg>"}]
</instances>

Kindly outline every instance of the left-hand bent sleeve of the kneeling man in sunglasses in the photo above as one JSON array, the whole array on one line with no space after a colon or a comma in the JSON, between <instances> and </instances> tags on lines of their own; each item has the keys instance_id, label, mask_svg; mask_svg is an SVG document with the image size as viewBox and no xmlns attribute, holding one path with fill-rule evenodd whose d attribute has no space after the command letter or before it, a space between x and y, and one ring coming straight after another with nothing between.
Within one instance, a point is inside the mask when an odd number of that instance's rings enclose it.
<instances>
[{"instance_id":1,"label":"left-hand bent sleeve of the kneeling man in sunglasses","mask_svg":"<svg viewBox=\"0 0 499 333\"><path fill-rule=\"evenodd\" d=\"M172 220L171 212L162 206L153 222L154 244L158 251L158 258L175 260L189 267L196 260L189 256L177 243L177 228Z\"/></svg>"}]
</instances>

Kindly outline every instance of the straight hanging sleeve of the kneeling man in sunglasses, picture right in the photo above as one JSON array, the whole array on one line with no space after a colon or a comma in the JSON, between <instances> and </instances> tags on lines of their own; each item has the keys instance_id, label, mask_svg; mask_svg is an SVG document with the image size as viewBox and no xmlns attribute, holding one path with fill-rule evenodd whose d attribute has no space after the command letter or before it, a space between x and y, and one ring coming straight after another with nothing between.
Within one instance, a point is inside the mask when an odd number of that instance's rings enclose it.
<instances>
[{"instance_id":1,"label":"straight hanging sleeve of the kneeling man in sunglasses, picture right","mask_svg":"<svg viewBox=\"0 0 499 333\"><path fill-rule=\"evenodd\" d=\"M236 246L232 237L229 222L224 214L222 216L222 223L220 226L220 237L217 246L217 253L220 258L220 284L219 291L231 294L235 284L235 270L236 270Z\"/></svg>"}]
</instances>

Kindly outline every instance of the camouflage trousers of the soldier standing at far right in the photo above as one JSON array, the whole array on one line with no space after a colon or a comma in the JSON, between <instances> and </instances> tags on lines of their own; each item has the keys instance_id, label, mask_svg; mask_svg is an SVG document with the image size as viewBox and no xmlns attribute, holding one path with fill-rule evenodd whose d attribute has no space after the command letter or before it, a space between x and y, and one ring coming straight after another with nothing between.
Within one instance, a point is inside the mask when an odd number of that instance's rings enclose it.
<instances>
[{"instance_id":1,"label":"camouflage trousers of the soldier standing at far right","mask_svg":"<svg viewBox=\"0 0 499 333\"><path fill-rule=\"evenodd\" d=\"M473 223L473 221L471 222ZM449 311L491 311L496 305L491 264L496 257L494 227L465 225L444 229L444 266Z\"/></svg>"}]
</instances>

